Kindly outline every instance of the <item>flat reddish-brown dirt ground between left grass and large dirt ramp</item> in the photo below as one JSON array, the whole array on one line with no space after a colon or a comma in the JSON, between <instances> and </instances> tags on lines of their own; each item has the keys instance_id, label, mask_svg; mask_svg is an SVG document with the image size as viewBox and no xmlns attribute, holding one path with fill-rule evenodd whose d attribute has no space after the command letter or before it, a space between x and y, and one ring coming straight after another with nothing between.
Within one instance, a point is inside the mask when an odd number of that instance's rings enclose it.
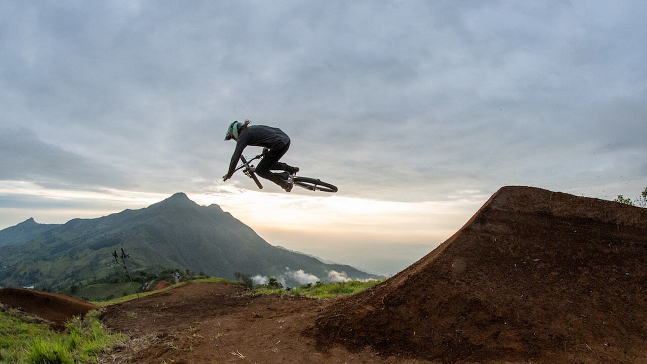
<instances>
[{"instance_id":1,"label":"flat reddish-brown dirt ground between left grass and large dirt ramp","mask_svg":"<svg viewBox=\"0 0 647 364\"><path fill-rule=\"evenodd\" d=\"M334 301L334 300L333 300ZM224 283L186 284L108 306L102 321L133 338L105 363L408 363L373 350L316 350L302 335L327 300L250 295Z\"/></svg>"}]
</instances>

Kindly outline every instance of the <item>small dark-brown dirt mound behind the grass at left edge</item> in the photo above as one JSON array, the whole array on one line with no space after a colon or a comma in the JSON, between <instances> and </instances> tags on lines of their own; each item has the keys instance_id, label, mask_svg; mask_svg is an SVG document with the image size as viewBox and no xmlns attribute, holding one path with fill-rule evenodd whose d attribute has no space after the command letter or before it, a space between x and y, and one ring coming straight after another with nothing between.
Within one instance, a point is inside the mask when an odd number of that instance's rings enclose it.
<instances>
[{"instance_id":1,"label":"small dark-brown dirt mound behind the grass at left edge","mask_svg":"<svg viewBox=\"0 0 647 364\"><path fill-rule=\"evenodd\" d=\"M0 290L0 302L52 321L54 328L61 328L72 317L85 315L88 311L99 308L90 302L57 293L13 287Z\"/></svg>"}]
</instances>

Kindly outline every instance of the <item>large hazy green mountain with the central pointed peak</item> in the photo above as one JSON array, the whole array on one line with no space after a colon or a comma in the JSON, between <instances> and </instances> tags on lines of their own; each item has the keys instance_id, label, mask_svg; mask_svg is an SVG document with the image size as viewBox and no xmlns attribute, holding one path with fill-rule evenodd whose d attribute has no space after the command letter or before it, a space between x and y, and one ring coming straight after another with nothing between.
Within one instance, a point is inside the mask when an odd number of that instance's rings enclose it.
<instances>
[{"instance_id":1,"label":"large hazy green mountain with the central pointed peak","mask_svg":"<svg viewBox=\"0 0 647 364\"><path fill-rule=\"evenodd\" d=\"M322 282L331 271L349 278L376 278L350 266L324 264L309 256L274 247L217 205L200 206L177 193L145 209L124 210L102 218L71 220L30 242L0 249L0 285L51 287L83 284L115 272L115 249L130 255L131 271L177 268L216 277L236 272L282 277L289 286L307 273Z\"/></svg>"}]
</instances>

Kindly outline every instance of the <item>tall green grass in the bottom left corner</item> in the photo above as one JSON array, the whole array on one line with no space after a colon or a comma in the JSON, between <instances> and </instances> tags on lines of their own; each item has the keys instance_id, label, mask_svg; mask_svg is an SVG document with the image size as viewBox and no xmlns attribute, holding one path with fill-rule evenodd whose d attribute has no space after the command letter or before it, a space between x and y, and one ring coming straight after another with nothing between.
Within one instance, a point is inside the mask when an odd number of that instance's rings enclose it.
<instances>
[{"instance_id":1,"label":"tall green grass in the bottom left corner","mask_svg":"<svg viewBox=\"0 0 647 364\"><path fill-rule=\"evenodd\" d=\"M27 323L12 312L0 312L0 364L96 363L97 357L124 342L127 337L111 334L94 310L84 319L74 317L63 332L43 323Z\"/></svg>"}]
</instances>

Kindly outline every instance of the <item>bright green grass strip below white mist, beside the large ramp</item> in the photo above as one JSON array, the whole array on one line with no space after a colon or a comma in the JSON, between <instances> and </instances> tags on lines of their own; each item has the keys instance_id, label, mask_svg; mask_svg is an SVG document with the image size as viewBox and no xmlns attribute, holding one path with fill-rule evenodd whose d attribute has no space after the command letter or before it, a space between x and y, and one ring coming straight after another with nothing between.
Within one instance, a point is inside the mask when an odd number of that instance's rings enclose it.
<instances>
[{"instance_id":1,"label":"bright green grass strip below white mist, beside the large ramp","mask_svg":"<svg viewBox=\"0 0 647 364\"><path fill-rule=\"evenodd\" d=\"M306 284L298 288L292 288L291 290L283 290L277 288L270 288L267 286L260 286L256 288L256 293L269 294L269 293L278 293L279 295L291 295L291 296L305 296L313 298L330 298L336 297L339 295L353 295L361 291L367 290L373 286L384 282L384 280L369 280L367 282L360 282L358 280L349 280L347 282L338 282L338 283L321 283L317 282L316 284Z\"/></svg>"}]
</instances>

